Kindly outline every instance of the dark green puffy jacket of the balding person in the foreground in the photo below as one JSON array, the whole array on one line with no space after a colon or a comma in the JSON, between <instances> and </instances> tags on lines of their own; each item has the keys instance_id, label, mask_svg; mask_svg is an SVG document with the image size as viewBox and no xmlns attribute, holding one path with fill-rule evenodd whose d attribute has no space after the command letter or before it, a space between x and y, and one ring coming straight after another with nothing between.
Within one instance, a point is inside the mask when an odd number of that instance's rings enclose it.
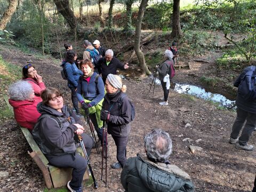
<instances>
[{"instance_id":1,"label":"dark green puffy jacket of the balding person in the foreground","mask_svg":"<svg viewBox=\"0 0 256 192\"><path fill-rule=\"evenodd\" d=\"M154 163L147 157L131 157L121 173L125 191L193 192L189 175L175 165Z\"/></svg>"}]
</instances>

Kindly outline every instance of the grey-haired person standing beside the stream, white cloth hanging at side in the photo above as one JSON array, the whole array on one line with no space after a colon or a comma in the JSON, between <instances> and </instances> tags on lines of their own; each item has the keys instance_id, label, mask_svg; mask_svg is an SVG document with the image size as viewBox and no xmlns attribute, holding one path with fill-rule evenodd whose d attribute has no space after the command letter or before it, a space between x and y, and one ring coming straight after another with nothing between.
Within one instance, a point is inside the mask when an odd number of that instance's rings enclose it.
<instances>
[{"instance_id":1,"label":"grey-haired person standing beside the stream, white cloth hanging at side","mask_svg":"<svg viewBox=\"0 0 256 192\"><path fill-rule=\"evenodd\" d=\"M161 81L161 85L162 85L162 88L163 88L163 91L164 91L164 98L162 99L163 102L159 102L160 105L168 105L168 95L169 95L169 88L168 86L166 86L166 83L164 81L164 77L168 74L169 75L169 78L170 78L170 82L172 82L172 75L173 73L175 74L174 71L174 68L173 68L173 54L170 50L165 50L164 52L164 59L165 61L159 65L159 66L156 66L156 70L158 72L158 76L159 76L159 80ZM170 83L169 82L169 83ZM173 83L173 82L172 82Z\"/></svg>"}]
</instances>

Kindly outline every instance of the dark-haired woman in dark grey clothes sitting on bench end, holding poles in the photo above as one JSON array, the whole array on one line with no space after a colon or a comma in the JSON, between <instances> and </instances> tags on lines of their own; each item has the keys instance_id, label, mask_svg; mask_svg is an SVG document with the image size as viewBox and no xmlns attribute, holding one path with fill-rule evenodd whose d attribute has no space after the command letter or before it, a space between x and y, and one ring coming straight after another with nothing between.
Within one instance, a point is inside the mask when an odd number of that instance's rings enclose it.
<instances>
[{"instance_id":1,"label":"dark-haired woman in dark grey clothes sitting on bench end, holding poles","mask_svg":"<svg viewBox=\"0 0 256 192\"><path fill-rule=\"evenodd\" d=\"M87 167L84 157L76 153L76 134L82 134L87 154L90 155L93 139L83 133L81 119L75 112L63 105L59 90L47 88L41 94L42 102L37 110L41 113L33 130L33 137L50 164L57 167L72 167L72 179L67 183L70 191L83 191L82 181Z\"/></svg>"}]
</instances>

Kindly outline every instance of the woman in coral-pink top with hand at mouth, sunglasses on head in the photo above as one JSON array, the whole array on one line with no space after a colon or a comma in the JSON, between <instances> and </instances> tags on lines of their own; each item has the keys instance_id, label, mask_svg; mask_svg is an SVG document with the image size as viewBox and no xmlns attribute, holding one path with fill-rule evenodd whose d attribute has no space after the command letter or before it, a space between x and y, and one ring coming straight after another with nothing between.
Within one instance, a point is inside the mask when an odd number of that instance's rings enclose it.
<instances>
[{"instance_id":1,"label":"woman in coral-pink top with hand at mouth, sunglasses on head","mask_svg":"<svg viewBox=\"0 0 256 192\"><path fill-rule=\"evenodd\" d=\"M45 90L44 82L42 81L42 76L37 74L37 71L33 65L30 63L22 68L22 79L29 82L33 90L35 91L35 100L41 102L41 92Z\"/></svg>"}]
</instances>

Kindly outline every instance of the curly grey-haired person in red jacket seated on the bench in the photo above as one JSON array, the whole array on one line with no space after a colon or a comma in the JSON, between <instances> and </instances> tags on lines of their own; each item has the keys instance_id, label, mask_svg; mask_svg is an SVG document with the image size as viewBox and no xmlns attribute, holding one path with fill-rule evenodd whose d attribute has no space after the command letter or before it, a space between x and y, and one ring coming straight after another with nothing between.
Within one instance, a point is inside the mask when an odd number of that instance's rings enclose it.
<instances>
[{"instance_id":1,"label":"curly grey-haired person in red jacket seated on the bench","mask_svg":"<svg viewBox=\"0 0 256 192\"><path fill-rule=\"evenodd\" d=\"M13 83L9 87L9 97L17 123L32 131L41 114L37 111L38 100L34 99L35 93L30 83L26 81Z\"/></svg>"}]
</instances>

